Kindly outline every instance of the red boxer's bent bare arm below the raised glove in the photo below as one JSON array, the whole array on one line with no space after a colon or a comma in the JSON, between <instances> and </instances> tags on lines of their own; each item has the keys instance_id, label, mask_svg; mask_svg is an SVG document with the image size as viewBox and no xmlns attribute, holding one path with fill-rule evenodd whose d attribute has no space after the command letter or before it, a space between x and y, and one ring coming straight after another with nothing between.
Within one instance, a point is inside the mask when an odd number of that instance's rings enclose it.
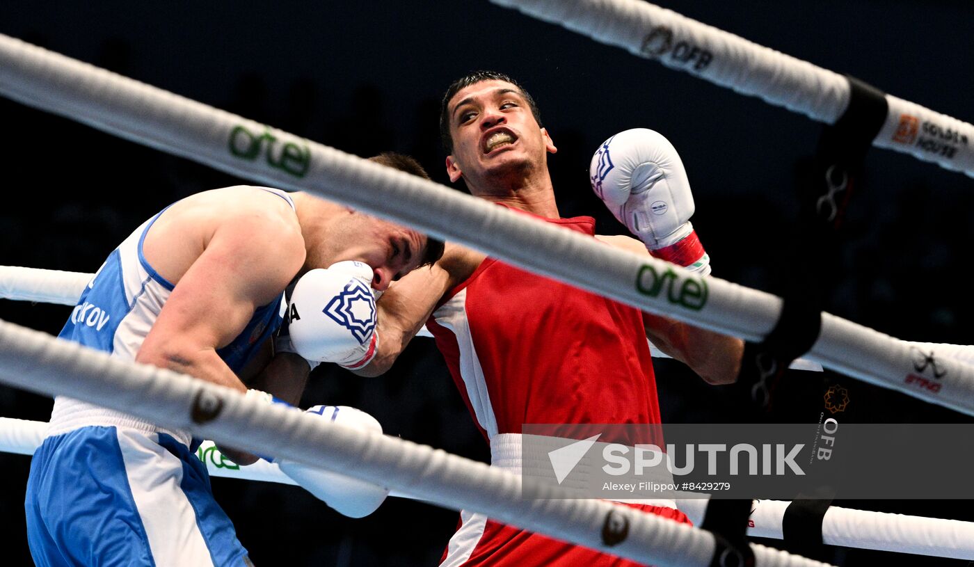
<instances>
[{"instance_id":1,"label":"red boxer's bent bare arm below the raised glove","mask_svg":"<svg viewBox=\"0 0 974 567\"><path fill-rule=\"evenodd\" d=\"M624 236L597 239L640 255L650 255L643 243ZM744 342L711 330L643 312L646 335L660 351L684 362L708 384L731 384L737 379Z\"/></svg>"}]
</instances>

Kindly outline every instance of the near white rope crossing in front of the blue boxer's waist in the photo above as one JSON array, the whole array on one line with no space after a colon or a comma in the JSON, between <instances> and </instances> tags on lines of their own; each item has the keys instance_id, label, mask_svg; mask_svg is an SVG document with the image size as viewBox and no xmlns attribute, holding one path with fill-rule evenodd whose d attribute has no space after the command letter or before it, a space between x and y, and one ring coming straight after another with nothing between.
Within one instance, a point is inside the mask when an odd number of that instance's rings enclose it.
<instances>
[{"instance_id":1,"label":"near white rope crossing in front of the blue boxer's waist","mask_svg":"<svg viewBox=\"0 0 974 567\"><path fill-rule=\"evenodd\" d=\"M709 532L601 500L558 498L542 487L521 498L521 477L389 435L362 432L294 407L135 364L0 321L0 380L49 396L69 396L137 415L216 442L341 472L453 510L472 510L573 544L659 566L706 567ZM610 517L627 522L618 545L603 543ZM608 522L617 526L617 522ZM615 533L610 530L610 533ZM752 545L759 567L823 565Z\"/></svg>"}]
</instances>

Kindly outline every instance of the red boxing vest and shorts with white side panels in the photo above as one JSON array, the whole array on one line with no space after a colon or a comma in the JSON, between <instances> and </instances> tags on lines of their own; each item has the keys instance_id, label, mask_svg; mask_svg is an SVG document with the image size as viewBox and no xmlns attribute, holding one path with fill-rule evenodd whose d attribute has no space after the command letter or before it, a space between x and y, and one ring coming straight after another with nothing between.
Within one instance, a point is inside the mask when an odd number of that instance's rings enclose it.
<instances>
[{"instance_id":1,"label":"red boxing vest and shorts with white side panels","mask_svg":"<svg viewBox=\"0 0 974 567\"><path fill-rule=\"evenodd\" d=\"M591 217L544 220L595 233ZM638 309L487 258L447 293L427 327L488 440L520 434L522 424L659 423ZM687 521L676 510L645 508ZM463 512L442 565L634 563Z\"/></svg>"}]
</instances>

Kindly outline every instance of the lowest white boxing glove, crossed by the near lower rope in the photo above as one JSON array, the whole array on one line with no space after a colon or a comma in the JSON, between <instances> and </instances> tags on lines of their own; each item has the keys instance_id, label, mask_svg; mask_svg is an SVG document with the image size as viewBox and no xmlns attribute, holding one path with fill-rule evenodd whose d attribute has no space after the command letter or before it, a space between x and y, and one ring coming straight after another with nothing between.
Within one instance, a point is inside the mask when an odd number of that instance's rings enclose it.
<instances>
[{"instance_id":1,"label":"lowest white boxing glove, crossed by the near lower rope","mask_svg":"<svg viewBox=\"0 0 974 567\"><path fill-rule=\"evenodd\" d=\"M317 414L338 425L382 433L382 425L378 420L364 411L347 405L316 405L309 408L306 413ZM281 468L281 472L287 474L291 480L342 515L366 516L377 510L389 496L388 488L365 480L286 460L275 462Z\"/></svg>"}]
</instances>

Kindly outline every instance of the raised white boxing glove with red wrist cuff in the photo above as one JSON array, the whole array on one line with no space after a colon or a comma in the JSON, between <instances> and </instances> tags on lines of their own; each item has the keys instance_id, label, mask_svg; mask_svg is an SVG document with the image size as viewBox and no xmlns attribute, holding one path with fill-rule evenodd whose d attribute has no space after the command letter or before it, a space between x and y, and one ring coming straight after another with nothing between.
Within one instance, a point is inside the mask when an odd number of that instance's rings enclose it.
<instances>
[{"instance_id":1,"label":"raised white boxing glove with red wrist cuff","mask_svg":"<svg viewBox=\"0 0 974 567\"><path fill-rule=\"evenodd\" d=\"M690 222L687 171L669 140L645 128L618 132L599 146L588 172L595 194L654 256L710 274Z\"/></svg>"}]
</instances>

